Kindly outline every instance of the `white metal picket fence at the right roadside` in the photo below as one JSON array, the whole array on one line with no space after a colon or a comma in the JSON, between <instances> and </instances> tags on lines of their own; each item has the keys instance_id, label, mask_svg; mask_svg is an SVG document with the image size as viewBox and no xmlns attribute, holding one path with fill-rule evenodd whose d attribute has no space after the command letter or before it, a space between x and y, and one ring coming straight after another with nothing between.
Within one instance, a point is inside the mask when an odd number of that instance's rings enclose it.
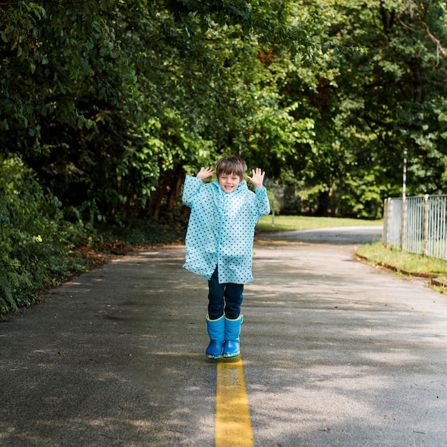
<instances>
[{"instance_id":1,"label":"white metal picket fence at the right roadside","mask_svg":"<svg viewBox=\"0 0 447 447\"><path fill-rule=\"evenodd\" d=\"M383 206L383 243L447 259L447 196L388 198Z\"/></svg>"}]
</instances>

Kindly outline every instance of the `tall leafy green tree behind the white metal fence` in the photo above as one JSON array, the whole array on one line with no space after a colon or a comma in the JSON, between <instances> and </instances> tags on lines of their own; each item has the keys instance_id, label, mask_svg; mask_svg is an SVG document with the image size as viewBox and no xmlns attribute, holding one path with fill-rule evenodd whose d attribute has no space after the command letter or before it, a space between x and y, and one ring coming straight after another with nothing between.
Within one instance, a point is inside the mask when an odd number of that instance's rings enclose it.
<instances>
[{"instance_id":1,"label":"tall leafy green tree behind the white metal fence","mask_svg":"<svg viewBox=\"0 0 447 447\"><path fill-rule=\"evenodd\" d=\"M325 54L308 76L288 76L285 94L304 94L301 112L315 122L313 148L297 172L301 198L313 211L381 216L383 199L401 194L406 151L411 194L443 191L444 8L412 0L338 2L321 36Z\"/></svg>"}]
</instances>

